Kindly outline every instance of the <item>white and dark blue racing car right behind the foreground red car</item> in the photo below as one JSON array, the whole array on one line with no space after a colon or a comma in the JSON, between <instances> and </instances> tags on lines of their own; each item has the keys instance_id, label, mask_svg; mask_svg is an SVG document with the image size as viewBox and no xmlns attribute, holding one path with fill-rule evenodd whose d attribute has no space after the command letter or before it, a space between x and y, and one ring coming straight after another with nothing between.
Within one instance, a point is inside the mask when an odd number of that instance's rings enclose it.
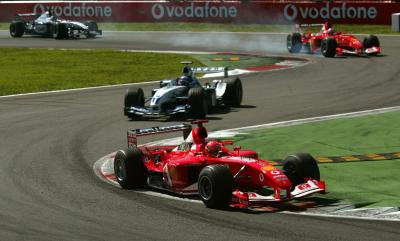
<instances>
[{"instance_id":1,"label":"white and dark blue racing car right behind the foreground red car","mask_svg":"<svg viewBox=\"0 0 400 241\"><path fill-rule=\"evenodd\" d=\"M172 116L188 114L204 118L208 111L220 106L240 106L243 87L240 78L228 78L226 67L194 67L184 61L182 76L161 80L160 87L153 89L145 98L142 88L129 88L124 98L124 114L130 119L142 116ZM224 79L200 85L197 73L223 73Z\"/></svg>"}]
</instances>

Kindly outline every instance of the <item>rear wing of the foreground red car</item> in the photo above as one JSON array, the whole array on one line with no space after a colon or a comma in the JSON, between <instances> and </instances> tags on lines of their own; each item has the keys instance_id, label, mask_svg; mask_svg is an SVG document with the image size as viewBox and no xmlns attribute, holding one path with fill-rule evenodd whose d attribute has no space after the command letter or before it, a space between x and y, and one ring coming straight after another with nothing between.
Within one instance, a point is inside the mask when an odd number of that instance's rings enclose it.
<instances>
[{"instance_id":1,"label":"rear wing of the foreground red car","mask_svg":"<svg viewBox=\"0 0 400 241\"><path fill-rule=\"evenodd\" d=\"M171 126L156 126L150 128L142 128L142 129L134 129L129 130L127 133L128 136L128 147L137 146L137 137L139 136L149 136L149 135L158 135L163 133L177 132L182 131L183 138L186 139L190 132L192 131L192 126L189 124L178 124Z\"/></svg>"}]
</instances>

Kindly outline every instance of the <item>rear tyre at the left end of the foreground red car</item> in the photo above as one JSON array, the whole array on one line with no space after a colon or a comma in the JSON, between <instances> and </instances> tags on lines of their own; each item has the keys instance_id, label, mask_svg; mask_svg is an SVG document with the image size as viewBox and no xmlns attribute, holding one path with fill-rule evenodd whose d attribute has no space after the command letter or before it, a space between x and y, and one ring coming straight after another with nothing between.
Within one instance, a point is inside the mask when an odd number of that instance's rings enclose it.
<instances>
[{"instance_id":1,"label":"rear tyre at the left end of the foreground red car","mask_svg":"<svg viewBox=\"0 0 400 241\"><path fill-rule=\"evenodd\" d=\"M143 163L142 153L136 147L118 151L114 157L114 174L124 189L145 186L147 168Z\"/></svg>"}]
</instances>

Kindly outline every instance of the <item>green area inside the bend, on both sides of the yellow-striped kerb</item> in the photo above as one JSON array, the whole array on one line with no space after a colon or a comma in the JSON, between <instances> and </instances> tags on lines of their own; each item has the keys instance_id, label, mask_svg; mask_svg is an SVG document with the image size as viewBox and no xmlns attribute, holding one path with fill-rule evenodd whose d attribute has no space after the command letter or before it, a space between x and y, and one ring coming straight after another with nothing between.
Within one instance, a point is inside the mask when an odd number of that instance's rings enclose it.
<instances>
[{"instance_id":1,"label":"green area inside the bend, on both sides of the yellow-striped kerb","mask_svg":"<svg viewBox=\"0 0 400 241\"><path fill-rule=\"evenodd\" d=\"M307 123L248 132L234 137L235 145L255 149L264 159L296 152L313 156L342 156L400 152L400 112ZM327 182L326 197L400 206L400 160L320 164Z\"/></svg>"}]
</instances>

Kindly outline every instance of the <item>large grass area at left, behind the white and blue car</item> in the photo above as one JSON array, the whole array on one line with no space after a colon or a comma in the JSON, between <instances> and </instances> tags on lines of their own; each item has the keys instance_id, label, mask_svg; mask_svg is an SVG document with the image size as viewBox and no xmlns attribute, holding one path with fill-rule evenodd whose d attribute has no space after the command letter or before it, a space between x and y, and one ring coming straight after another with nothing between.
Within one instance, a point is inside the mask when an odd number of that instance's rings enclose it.
<instances>
[{"instance_id":1,"label":"large grass area at left, behind the white and blue car","mask_svg":"<svg viewBox=\"0 0 400 241\"><path fill-rule=\"evenodd\" d=\"M0 95L175 78L181 54L0 48Z\"/></svg>"}]
</instances>

